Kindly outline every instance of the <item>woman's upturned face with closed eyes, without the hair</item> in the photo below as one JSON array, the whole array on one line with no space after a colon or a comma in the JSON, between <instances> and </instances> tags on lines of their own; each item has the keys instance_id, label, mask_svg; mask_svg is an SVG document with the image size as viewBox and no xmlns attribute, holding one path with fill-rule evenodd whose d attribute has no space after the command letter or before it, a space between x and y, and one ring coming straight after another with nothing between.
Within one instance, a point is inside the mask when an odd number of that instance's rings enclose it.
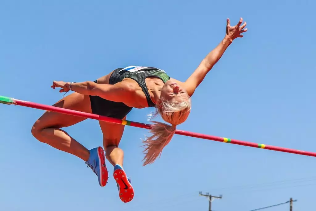
<instances>
[{"instance_id":1,"label":"woman's upturned face with closed eyes, without the hair","mask_svg":"<svg viewBox=\"0 0 316 211\"><path fill-rule=\"evenodd\" d=\"M185 89L180 87L180 85L173 79L168 80L163 85L160 96L163 99L176 102L183 102L189 99L189 95Z\"/></svg>"}]
</instances>

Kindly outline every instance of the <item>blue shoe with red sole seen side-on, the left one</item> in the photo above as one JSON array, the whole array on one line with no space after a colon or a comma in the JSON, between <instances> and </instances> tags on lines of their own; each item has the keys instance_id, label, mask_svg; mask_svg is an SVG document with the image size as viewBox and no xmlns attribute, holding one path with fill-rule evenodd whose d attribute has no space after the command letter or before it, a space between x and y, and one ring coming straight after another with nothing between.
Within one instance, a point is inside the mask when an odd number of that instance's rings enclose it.
<instances>
[{"instance_id":1,"label":"blue shoe with red sole seen side-on, the left one","mask_svg":"<svg viewBox=\"0 0 316 211\"><path fill-rule=\"evenodd\" d=\"M90 157L86 164L92 169L92 171L98 176L99 184L104 187L109 178L109 173L105 165L105 156L102 147L93 148L89 150Z\"/></svg>"}]
</instances>

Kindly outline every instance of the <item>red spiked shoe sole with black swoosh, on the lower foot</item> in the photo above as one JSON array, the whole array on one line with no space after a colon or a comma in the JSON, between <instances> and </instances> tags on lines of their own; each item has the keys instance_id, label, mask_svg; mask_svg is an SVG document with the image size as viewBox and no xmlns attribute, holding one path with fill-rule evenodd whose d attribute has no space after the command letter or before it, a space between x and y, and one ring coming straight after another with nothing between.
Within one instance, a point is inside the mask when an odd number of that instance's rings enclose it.
<instances>
[{"instance_id":1,"label":"red spiked shoe sole with black swoosh, on the lower foot","mask_svg":"<svg viewBox=\"0 0 316 211\"><path fill-rule=\"evenodd\" d=\"M128 181L126 173L122 169L116 169L113 172L113 177L117 184L119 184L119 197L122 202L127 203L134 198L134 189Z\"/></svg>"}]
</instances>

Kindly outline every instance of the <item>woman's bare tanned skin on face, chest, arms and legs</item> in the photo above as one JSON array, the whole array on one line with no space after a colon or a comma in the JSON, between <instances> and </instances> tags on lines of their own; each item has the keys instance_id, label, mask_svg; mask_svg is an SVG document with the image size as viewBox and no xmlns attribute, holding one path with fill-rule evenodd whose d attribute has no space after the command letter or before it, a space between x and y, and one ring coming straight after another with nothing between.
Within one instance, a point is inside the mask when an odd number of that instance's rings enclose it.
<instances>
[{"instance_id":1,"label":"woman's bare tanned skin on face, chest, arms and legs","mask_svg":"<svg viewBox=\"0 0 316 211\"><path fill-rule=\"evenodd\" d=\"M196 88L204 80L207 73L213 68L217 61L222 57L234 39L242 38L247 31L246 22L240 18L234 26L230 25L227 19L226 33L222 41L201 61L192 74L183 82L170 79L164 83L156 77L148 77L145 83L150 95L150 99L156 105L160 100L173 102L187 101L195 92ZM89 95L99 96L113 102L121 102L129 107L145 108L148 107L146 96L139 84L131 78L124 78L122 81L109 84L109 73L98 78L97 83L92 81L84 82L65 82L53 81L52 88L61 89L59 92L73 93L66 95L54 106L66 109L92 113ZM176 76L176 75L175 75ZM106 108L105 108L106 109ZM123 118L126 119L126 116ZM56 112L45 112L33 125L32 134L40 142L51 145L54 148L73 154L84 161L89 158L89 150L72 138L61 128L69 127L85 120L82 117L69 116ZM120 149L119 143L123 136L125 125L99 122L103 133L103 146L106 151L107 160L114 166L123 166L124 152Z\"/></svg>"}]
</instances>

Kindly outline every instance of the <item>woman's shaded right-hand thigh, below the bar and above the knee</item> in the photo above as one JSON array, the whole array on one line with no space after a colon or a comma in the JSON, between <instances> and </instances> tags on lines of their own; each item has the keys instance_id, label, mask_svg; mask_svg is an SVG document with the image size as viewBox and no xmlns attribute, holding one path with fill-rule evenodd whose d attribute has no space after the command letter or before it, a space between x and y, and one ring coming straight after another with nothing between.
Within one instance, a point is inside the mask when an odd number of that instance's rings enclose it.
<instances>
[{"instance_id":1,"label":"woman's shaded right-hand thigh, below the bar and above the knee","mask_svg":"<svg viewBox=\"0 0 316 211\"><path fill-rule=\"evenodd\" d=\"M126 119L126 116L123 118ZM103 146L119 146L125 125L99 121L103 133Z\"/></svg>"}]
</instances>

